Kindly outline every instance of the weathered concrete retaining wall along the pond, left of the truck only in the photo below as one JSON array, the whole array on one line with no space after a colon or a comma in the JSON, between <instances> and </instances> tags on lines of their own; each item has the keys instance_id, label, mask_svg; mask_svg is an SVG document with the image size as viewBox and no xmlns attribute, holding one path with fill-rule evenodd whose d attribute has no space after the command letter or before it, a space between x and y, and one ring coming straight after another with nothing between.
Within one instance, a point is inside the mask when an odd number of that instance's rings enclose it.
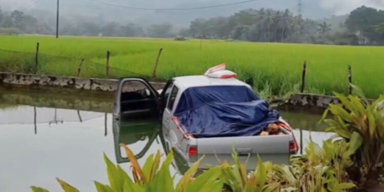
<instances>
[{"instance_id":1,"label":"weathered concrete retaining wall along the pond, left of the truck only","mask_svg":"<svg viewBox=\"0 0 384 192\"><path fill-rule=\"evenodd\" d=\"M4 87L56 87L77 90L115 92L117 89L117 79L98 79L84 77L63 77L52 75L31 75L19 73L0 72L0 84ZM162 89L165 84L151 82L155 89Z\"/></svg>"}]
</instances>

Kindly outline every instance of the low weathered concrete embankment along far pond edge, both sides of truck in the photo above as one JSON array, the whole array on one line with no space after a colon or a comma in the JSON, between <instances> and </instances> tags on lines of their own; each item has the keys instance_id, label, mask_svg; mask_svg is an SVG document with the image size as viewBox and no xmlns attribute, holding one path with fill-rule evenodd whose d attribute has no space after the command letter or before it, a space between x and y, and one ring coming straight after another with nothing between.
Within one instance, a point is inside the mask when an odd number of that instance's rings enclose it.
<instances>
[{"instance_id":1,"label":"low weathered concrete embankment along far pond edge, both sides of truck","mask_svg":"<svg viewBox=\"0 0 384 192\"><path fill-rule=\"evenodd\" d=\"M52 92L52 89L56 88L56 93L67 95L95 95L100 97L106 94L109 95L107 97L113 98L111 97L111 94L115 93L117 89L117 82L118 79L64 77L0 72L0 85L5 89L27 89ZM165 83L162 82L151 82L151 84L157 90L163 89L165 85ZM329 104L339 103L339 100L333 96L301 93L293 94L286 102L286 104L289 105L315 107L320 109L327 108Z\"/></svg>"}]
</instances>

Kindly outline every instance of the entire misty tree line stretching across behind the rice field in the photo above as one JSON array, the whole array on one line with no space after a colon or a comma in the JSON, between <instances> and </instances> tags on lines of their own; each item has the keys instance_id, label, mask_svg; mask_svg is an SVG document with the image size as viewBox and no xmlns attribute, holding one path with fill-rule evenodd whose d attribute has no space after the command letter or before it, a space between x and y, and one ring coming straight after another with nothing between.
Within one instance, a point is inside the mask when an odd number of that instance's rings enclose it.
<instances>
[{"instance_id":1,"label":"entire misty tree line stretching across behind the rice field","mask_svg":"<svg viewBox=\"0 0 384 192\"><path fill-rule=\"evenodd\" d=\"M260 42L297 42L337 45L384 45L384 11L362 6L353 10L342 30L327 22L294 15L290 10L247 9L227 17L195 19L188 28L177 30L164 23L143 27L116 22L98 25L81 22L60 27L62 35L175 37L234 39ZM39 22L22 11L2 12L0 33L53 34L54 26Z\"/></svg>"}]
</instances>

